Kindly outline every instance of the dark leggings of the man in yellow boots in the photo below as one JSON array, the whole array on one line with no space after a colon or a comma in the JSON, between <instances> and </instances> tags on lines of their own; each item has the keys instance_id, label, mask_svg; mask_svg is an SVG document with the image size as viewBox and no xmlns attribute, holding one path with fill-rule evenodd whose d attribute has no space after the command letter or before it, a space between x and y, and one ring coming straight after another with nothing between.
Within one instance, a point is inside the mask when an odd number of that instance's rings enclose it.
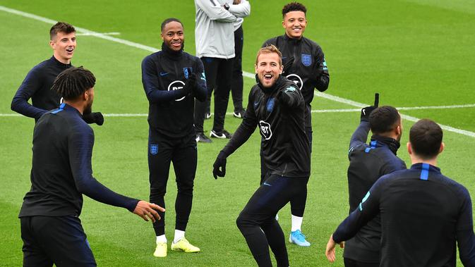
<instances>
[{"instance_id":1,"label":"dark leggings of the man in yellow boots","mask_svg":"<svg viewBox=\"0 0 475 267\"><path fill-rule=\"evenodd\" d=\"M195 135L174 139L164 137L150 129L148 138L150 202L165 207L164 195L167 192L170 162L173 162L178 188L175 200L177 230L186 230L191 213L197 154ZM160 211L158 213L161 219L153 223L157 236L165 233L165 213Z\"/></svg>"}]
</instances>

